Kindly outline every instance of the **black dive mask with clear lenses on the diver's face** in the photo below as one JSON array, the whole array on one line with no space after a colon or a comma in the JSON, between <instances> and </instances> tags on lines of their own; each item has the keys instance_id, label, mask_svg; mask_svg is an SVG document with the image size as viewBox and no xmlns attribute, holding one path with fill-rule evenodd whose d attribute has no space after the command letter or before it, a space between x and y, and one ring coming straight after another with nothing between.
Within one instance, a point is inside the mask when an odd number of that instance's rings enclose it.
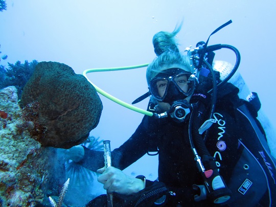
<instances>
[{"instance_id":1,"label":"black dive mask with clear lenses on the diver's face","mask_svg":"<svg viewBox=\"0 0 276 207\"><path fill-rule=\"evenodd\" d=\"M192 73L179 68L166 71L170 73L160 73L150 81L150 93L156 100L170 103L186 99L193 93L196 81Z\"/></svg>"}]
</instances>

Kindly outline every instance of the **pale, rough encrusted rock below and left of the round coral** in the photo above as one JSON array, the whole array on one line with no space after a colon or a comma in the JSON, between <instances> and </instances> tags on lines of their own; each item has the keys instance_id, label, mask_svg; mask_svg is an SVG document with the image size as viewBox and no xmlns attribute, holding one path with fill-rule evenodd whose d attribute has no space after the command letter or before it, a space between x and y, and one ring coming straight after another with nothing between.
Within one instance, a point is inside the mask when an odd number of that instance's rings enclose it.
<instances>
[{"instance_id":1,"label":"pale, rough encrusted rock below and left of the round coral","mask_svg":"<svg viewBox=\"0 0 276 207\"><path fill-rule=\"evenodd\" d=\"M25 119L15 86L0 90L0 111L0 205L34 206L52 177L54 148L41 147L31 135L35 124Z\"/></svg>"}]
</instances>

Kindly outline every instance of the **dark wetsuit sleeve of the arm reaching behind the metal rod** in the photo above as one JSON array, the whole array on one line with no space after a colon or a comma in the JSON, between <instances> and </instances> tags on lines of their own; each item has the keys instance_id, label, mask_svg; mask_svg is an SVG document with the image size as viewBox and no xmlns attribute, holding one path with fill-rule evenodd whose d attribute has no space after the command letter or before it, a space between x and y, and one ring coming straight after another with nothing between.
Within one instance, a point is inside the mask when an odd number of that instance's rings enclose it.
<instances>
[{"instance_id":1,"label":"dark wetsuit sleeve of the arm reaching behind the metal rod","mask_svg":"<svg viewBox=\"0 0 276 207\"><path fill-rule=\"evenodd\" d=\"M145 116L132 136L121 147L111 152L113 167L123 170L147 153L148 133L145 124L147 119ZM84 147L84 157L78 164L91 171L97 171L104 167L104 153Z\"/></svg>"}]
</instances>

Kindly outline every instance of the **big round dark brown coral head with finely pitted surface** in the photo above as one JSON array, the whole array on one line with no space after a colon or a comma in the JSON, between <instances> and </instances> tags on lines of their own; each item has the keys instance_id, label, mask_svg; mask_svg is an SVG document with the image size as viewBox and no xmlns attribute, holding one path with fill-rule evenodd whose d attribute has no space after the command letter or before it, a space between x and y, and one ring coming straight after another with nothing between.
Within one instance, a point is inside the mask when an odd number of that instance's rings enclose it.
<instances>
[{"instance_id":1,"label":"big round dark brown coral head with finely pitted surface","mask_svg":"<svg viewBox=\"0 0 276 207\"><path fill-rule=\"evenodd\" d=\"M85 77L58 62L40 62L26 84L20 106L38 102L37 124L43 147L71 148L83 143L100 120L102 102Z\"/></svg>"}]
</instances>

